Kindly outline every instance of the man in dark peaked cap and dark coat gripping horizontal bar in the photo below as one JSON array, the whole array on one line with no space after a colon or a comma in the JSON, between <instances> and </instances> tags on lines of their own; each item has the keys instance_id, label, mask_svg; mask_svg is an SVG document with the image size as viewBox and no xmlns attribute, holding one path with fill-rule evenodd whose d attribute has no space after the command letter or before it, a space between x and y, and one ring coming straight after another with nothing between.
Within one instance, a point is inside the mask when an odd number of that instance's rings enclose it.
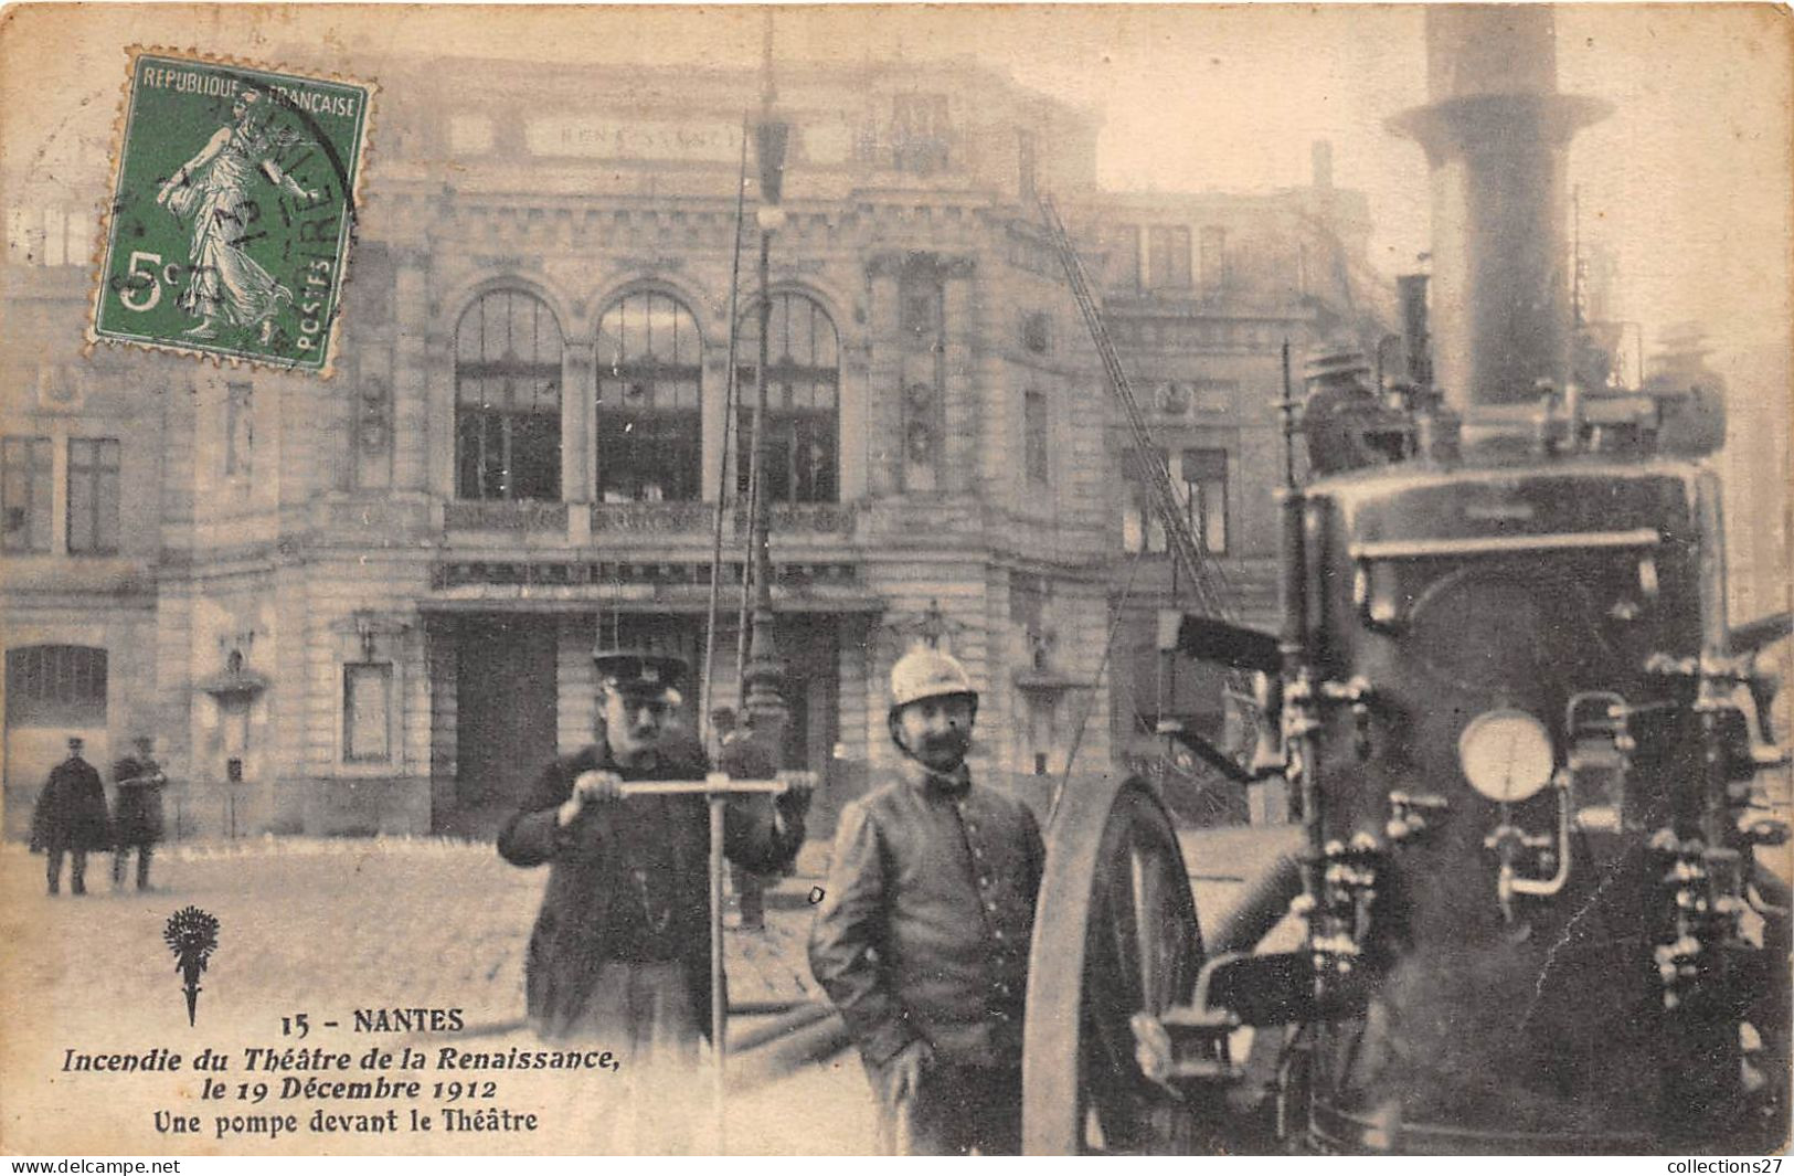
<instances>
[{"instance_id":1,"label":"man in dark peaked cap and dark coat gripping horizontal bar","mask_svg":"<svg viewBox=\"0 0 1794 1176\"><path fill-rule=\"evenodd\" d=\"M633 1090L630 1151L689 1145L691 1070L710 1031L709 808L703 795L623 795L624 781L701 779L696 740L664 738L685 664L597 654L597 742L551 763L499 833L515 865L551 865L526 959L529 1020L590 1041ZM725 855L780 869L804 844L809 792L737 797Z\"/></svg>"}]
</instances>

